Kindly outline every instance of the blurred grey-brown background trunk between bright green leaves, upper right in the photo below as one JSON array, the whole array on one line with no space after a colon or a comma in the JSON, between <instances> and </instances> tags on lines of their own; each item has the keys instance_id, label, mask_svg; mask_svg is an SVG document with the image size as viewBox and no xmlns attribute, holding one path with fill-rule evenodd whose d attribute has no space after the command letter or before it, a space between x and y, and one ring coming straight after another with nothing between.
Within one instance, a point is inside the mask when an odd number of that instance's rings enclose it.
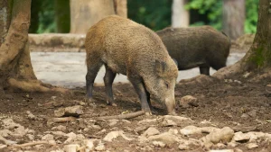
<instances>
[{"instance_id":1,"label":"blurred grey-brown background trunk between bright green leaves, upper right","mask_svg":"<svg viewBox=\"0 0 271 152\"><path fill-rule=\"evenodd\" d=\"M223 31L232 40L244 34L245 0L223 0Z\"/></svg>"}]
</instances>

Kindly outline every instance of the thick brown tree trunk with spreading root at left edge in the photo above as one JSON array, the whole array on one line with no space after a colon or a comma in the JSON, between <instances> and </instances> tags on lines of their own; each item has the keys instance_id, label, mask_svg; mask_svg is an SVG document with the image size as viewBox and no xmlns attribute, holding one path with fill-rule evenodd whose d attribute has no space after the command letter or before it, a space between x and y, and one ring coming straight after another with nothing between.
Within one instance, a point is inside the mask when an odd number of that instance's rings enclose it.
<instances>
[{"instance_id":1,"label":"thick brown tree trunk with spreading root at left edge","mask_svg":"<svg viewBox=\"0 0 271 152\"><path fill-rule=\"evenodd\" d=\"M2 1L3 2L3 1ZM6 3L7 2L7 3ZM37 81L28 49L31 0L12 0L0 3L4 11L4 24L0 24L0 87L19 88L24 91L48 91ZM6 17L7 16L7 17ZM8 17L10 16L10 17ZM10 22L10 25L7 23ZM8 29L8 31L7 31Z\"/></svg>"}]
</instances>

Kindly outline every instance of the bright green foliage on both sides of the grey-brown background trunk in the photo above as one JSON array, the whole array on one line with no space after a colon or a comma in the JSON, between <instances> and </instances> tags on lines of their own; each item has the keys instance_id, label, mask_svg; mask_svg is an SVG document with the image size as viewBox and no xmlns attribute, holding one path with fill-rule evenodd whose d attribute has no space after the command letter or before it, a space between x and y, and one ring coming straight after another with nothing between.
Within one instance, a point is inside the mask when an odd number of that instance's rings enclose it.
<instances>
[{"instance_id":1,"label":"bright green foliage on both sides of the grey-brown background trunk","mask_svg":"<svg viewBox=\"0 0 271 152\"><path fill-rule=\"evenodd\" d=\"M195 22L192 26L209 24L217 30L222 29L222 0L191 0L186 4L186 9L198 10L201 14L207 14L209 22ZM258 0L246 0L245 32L254 33L257 30Z\"/></svg>"}]
</instances>

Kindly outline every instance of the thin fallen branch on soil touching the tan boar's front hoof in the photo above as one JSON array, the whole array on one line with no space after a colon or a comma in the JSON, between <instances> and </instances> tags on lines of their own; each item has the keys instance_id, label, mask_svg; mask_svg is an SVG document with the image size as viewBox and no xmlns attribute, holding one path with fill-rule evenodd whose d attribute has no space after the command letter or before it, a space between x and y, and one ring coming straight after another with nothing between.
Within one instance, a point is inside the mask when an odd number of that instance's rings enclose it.
<instances>
[{"instance_id":1,"label":"thin fallen branch on soil touching the tan boar's front hoof","mask_svg":"<svg viewBox=\"0 0 271 152\"><path fill-rule=\"evenodd\" d=\"M115 115L115 116L104 116L104 117L97 117L95 118L96 121L104 121L104 120L128 120L132 119L141 115L144 115L145 112L139 111L139 112L132 112L132 113L127 113L127 114L120 114L120 115Z\"/></svg>"}]
</instances>

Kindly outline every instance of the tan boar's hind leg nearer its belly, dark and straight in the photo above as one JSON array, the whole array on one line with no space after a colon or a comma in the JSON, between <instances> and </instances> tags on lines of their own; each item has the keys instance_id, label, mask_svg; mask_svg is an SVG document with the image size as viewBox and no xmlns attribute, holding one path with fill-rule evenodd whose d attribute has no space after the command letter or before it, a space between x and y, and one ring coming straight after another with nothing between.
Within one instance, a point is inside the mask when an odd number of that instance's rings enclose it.
<instances>
[{"instance_id":1,"label":"tan boar's hind leg nearer its belly, dark and straight","mask_svg":"<svg viewBox=\"0 0 271 152\"><path fill-rule=\"evenodd\" d=\"M106 85L106 94L107 94L107 104L117 106L114 103L112 84L116 77L116 73L114 73L109 67L106 66L106 75L104 76L104 82Z\"/></svg>"}]
</instances>

